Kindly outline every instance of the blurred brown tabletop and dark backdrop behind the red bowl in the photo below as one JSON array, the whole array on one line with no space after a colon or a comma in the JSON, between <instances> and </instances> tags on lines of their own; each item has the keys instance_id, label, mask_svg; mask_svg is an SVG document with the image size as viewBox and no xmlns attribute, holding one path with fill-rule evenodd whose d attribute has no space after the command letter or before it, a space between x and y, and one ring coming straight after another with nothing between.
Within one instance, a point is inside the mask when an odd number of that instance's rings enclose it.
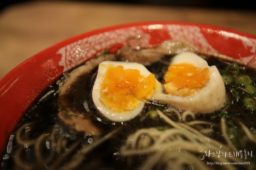
<instances>
[{"instance_id":1,"label":"blurred brown tabletop and dark backdrop behind the red bowl","mask_svg":"<svg viewBox=\"0 0 256 170\"><path fill-rule=\"evenodd\" d=\"M1 2L0 78L30 56L93 29L140 21L184 21L256 35L253 1L94 0Z\"/></svg>"}]
</instances>

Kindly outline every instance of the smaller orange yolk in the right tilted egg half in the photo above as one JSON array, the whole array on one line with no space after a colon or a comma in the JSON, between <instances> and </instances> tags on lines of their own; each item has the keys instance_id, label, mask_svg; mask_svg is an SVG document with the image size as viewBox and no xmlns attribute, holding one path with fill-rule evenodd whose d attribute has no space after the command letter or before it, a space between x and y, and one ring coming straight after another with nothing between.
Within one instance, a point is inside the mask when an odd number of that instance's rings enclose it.
<instances>
[{"instance_id":1,"label":"smaller orange yolk in the right tilted egg half","mask_svg":"<svg viewBox=\"0 0 256 170\"><path fill-rule=\"evenodd\" d=\"M198 68L189 63L173 64L165 73L164 88L168 94L190 96L196 94L210 79L208 68Z\"/></svg>"}]
</instances>

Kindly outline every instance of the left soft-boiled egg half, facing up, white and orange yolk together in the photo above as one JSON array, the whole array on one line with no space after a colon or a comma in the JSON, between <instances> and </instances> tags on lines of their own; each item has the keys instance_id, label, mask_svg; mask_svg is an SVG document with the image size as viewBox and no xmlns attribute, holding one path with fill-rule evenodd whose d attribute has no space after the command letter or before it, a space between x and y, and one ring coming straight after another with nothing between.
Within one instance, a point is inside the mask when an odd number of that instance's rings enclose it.
<instances>
[{"instance_id":1,"label":"left soft-boiled egg half, facing up, white and orange yolk together","mask_svg":"<svg viewBox=\"0 0 256 170\"><path fill-rule=\"evenodd\" d=\"M144 101L159 91L161 84L142 64L104 61L99 64L92 100L103 116L124 122L137 116Z\"/></svg>"}]
</instances>

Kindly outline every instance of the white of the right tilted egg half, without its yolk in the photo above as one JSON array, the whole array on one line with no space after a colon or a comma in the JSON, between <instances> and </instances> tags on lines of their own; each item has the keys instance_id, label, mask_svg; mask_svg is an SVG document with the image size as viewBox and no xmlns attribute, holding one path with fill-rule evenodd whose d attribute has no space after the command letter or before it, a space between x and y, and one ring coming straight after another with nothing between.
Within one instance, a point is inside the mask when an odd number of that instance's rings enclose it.
<instances>
[{"instance_id":1,"label":"white of the right tilted egg half, without its yolk","mask_svg":"<svg viewBox=\"0 0 256 170\"><path fill-rule=\"evenodd\" d=\"M202 69L208 67L210 71L209 82L199 92L191 96L182 97L156 93L153 95L153 99L196 113L212 113L220 109L226 99L226 90L217 67L209 67L203 58L191 52L184 52L174 56L171 65L179 63L190 63Z\"/></svg>"}]
</instances>

